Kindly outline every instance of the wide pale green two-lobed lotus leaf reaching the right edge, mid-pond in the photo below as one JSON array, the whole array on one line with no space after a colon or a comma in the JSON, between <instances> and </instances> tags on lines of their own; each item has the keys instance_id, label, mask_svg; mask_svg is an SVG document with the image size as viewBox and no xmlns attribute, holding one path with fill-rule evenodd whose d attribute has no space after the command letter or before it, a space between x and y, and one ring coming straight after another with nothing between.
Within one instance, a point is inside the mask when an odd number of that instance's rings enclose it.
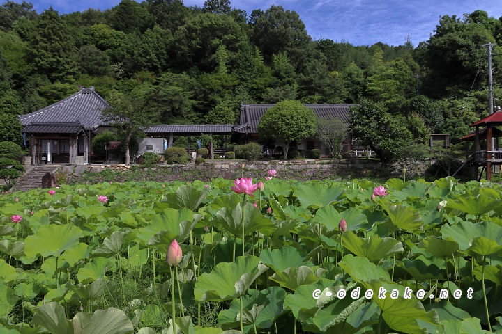
<instances>
[{"instance_id":1,"label":"wide pale green two-lobed lotus leaf reaching the right edge, mid-pond","mask_svg":"<svg viewBox=\"0 0 502 334\"><path fill-rule=\"evenodd\" d=\"M502 226L496 225L492 221L482 223L460 221L457 225L443 225L441 235L443 239L457 241L460 250L465 251L471 247L471 243L476 237L485 237L494 241L502 240Z\"/></svg>"}]
</instances>

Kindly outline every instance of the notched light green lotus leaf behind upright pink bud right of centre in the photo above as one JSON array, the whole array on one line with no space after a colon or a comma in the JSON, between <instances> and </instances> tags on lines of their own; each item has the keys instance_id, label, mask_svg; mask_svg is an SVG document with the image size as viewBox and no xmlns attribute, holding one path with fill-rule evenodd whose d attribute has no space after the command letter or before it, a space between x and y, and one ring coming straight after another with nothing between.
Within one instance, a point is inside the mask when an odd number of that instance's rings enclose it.
<instances>
[{"instance_id":1,"label":"notched light green lotus leaf behind upright pink bud right of centre","mask_svg":"<svg viewBox=\"0 0 502 334\"><path fill-rule=\"evenodd\" d=\"M321 207L317 210L314 221L317 221L328 228L328 230L338 230L338 224L345 219L347 223L347 230L359 230L368 223L367 217L363 214L363 211L359 208L351 207L344 212L337 212L337 210L332 206Z\"/></svg>"}]
</instances>

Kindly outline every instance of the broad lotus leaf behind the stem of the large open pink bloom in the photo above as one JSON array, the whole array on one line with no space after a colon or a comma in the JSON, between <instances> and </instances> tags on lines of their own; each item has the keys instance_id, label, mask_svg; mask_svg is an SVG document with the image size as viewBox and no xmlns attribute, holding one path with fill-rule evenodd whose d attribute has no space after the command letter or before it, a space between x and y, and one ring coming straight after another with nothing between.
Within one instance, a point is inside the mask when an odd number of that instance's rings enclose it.
<instances>
[{"instance_id":1,"label":"broad lotus leaf behind the stem of the large open pink bloom","mask_svg":"<svg viewBox=\"0 0 502 334\"><path fill-rule=\"evenodd\" d=\"M250 234L254 231L268 235L275 230L272 221L265 218L261 212L251 203L245 203L244 222L242 221L242 203L238 203L234 209L223 207L216 213L218 222L223 225L225 230L236 236ZM244 231L243 231L244 225Z\"/></svg>"}]
</instances>

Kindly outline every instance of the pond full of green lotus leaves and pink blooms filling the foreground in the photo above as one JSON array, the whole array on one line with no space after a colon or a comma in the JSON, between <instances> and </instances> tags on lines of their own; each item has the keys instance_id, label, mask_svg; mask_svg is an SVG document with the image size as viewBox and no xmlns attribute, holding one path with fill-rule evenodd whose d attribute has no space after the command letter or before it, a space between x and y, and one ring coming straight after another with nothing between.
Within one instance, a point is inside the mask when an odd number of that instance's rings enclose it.
<instances>
[{"instance_id":1,"label":"pond full of green lotus leaves and pink blooms filling the foreground","mask_svg":"<svg viewBox=\"0 0 502 334\"><path fill-rule=\"evenodd\" d=\"M502 333L500 184L231 186L2 194L0 333Z\"/></svg>"}]
</instances>

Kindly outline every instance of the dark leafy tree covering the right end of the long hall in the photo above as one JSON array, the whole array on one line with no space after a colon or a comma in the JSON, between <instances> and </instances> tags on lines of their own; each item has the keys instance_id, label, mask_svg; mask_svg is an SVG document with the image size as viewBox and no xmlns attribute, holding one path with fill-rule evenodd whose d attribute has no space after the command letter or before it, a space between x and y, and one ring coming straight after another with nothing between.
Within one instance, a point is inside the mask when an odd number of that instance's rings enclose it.
<instances>
[{"instance_id":1,"label":"dark leafy tree covering the right end of the long hall","mask_svg":"<svg viewBox=\"0 0 502 334\"><path fill-rule=\"evenodd\" d=\"M404 118L388 113L383 102L363 99L349 112L349 129L353 138L374 150L381 161L389 161L398 148L413 141Z\"/></svg>"}]
</instances>

